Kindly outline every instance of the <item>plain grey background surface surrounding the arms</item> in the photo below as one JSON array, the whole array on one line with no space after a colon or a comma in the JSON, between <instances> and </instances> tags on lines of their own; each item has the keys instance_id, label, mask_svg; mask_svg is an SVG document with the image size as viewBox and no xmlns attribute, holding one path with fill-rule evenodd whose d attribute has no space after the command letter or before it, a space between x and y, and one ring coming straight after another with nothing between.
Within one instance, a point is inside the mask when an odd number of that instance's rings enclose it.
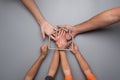
<instances>
[{"instance_id":1,"label":"plain grey background surface surrounding the arms","mask_svg":"<svg viewBox=\"0 0 120 80\"><path fill-rule=\"evenodd\" d=\"M75 25L120 5L120 0L36 0L44 17L54 26ZM120 23L80 34L75 38L98 80L119 80ZM48 38L47 38L48 39ZM0 0L0 80L23 80L47 43L34 17L19 0ZM36 80L47 75L53 51L49 51ZM85 80L75 57L67 52L74 80ZM56 80L64 80L61 67Z\"/></svg>"}]
</instances>

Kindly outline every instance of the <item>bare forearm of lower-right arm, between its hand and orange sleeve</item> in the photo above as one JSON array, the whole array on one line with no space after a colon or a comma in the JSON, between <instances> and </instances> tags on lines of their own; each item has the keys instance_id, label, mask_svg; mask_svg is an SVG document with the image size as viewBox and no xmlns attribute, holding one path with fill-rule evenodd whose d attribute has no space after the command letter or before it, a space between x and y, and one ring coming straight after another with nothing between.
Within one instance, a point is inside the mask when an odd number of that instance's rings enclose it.
<instances>
[{"instance_id":1,"label":"bare forearm of lower-right arm, between its hand and orange sleeve","mask_svg":"<svg viewBox=\"0 0 120 80\"><path fill-rule=\"evenodd\" d=\"M81 55L80 52L77 52L75 54L75 57L76 57L79 65L80 65L80 67L81 67L81 69L82 69L82 71L84 72L85 75L88 74L88 73L92 73L87 61L83 58L83 56Z\"/></svg>"}]
</instances>

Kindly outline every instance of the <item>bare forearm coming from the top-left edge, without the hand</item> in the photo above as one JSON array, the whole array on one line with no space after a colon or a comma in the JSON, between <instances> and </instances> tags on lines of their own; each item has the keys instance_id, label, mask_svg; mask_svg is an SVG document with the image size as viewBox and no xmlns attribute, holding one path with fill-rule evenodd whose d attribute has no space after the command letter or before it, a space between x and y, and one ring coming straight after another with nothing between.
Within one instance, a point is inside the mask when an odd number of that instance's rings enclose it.
<instances>
[{"instance_id":1,"label":"bare forearm coming from the top-left edge, without the hand","mask_svg":"<svg viewBox=\"0 0 120 80\"><path fill-rule=\"evenodd\" d=\"M44 22L46 22L45 18L42 16L34 0L21 0L21 1L26 6L26 8L28 8L28 10L33 14L38 24L42 25L44 24Z\"/></svg>"}]
</instances>

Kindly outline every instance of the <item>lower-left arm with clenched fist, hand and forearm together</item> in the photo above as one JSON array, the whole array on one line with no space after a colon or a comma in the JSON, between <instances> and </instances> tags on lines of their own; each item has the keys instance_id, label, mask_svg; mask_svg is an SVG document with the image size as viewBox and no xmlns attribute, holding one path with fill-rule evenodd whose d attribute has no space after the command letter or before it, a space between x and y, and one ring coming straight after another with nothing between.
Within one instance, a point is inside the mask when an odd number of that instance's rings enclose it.
<instances>
[{"instance_id":1,"label":"lower-left arm with clenched fist, hand and forearm together","mask_svg":"<svg viewBox=\"0 0 120 80\"><path fill-rule=\"evenodd\" d=\"M41 63L43 62L44 58L47 55L47 46L43 45L41 47L41 55L39 56L39 58L35 61L35 63L32 65L32 67L29 69L29 71L26 73L26 76L24 78L24 80L34 80L39 67L41 65Z\"/></svg>"}]
</instances>

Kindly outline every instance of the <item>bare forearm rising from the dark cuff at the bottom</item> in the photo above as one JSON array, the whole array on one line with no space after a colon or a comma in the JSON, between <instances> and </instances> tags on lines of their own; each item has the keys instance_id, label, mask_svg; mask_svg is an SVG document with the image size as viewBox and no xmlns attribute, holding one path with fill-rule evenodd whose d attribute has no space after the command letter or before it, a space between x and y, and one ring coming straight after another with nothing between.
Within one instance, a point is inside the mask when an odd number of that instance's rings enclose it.
<instances>
[{"instance_id":1,"label":"bare forearm rising from the dark cuff at the bottom","mask_svg":"<svg viewBox=\"0 0 120 80\"><path fill-rule=\"evenodd\" d=\"M55 51L49 67L48 75L54 77L59 64L59 51Z\"/></svg>"}]
</instances>

